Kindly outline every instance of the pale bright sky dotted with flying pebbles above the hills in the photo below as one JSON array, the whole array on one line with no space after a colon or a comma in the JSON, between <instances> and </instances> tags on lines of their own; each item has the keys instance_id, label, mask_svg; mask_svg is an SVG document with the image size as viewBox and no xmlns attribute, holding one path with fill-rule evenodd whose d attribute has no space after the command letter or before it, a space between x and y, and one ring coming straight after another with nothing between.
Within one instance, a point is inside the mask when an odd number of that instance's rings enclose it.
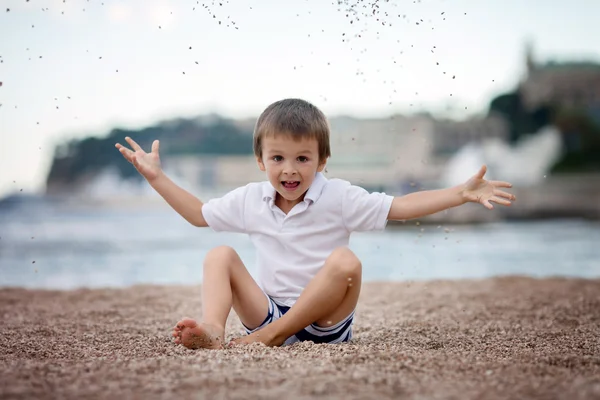
<instances>
[{"instance_id":1,"label":"pale bright sky dotted with flying pebbles above the hills","mask_svg":"<svg viewBox=\"0 0 600 400\"><path fill-rule=\"evenodd\" d=\"M0 198L43 192L57 143L116 127L285 97L463 119L518 84L527 40L540 61L600 61L597 0L1 3Z\"/></svg>"}]
</instances>

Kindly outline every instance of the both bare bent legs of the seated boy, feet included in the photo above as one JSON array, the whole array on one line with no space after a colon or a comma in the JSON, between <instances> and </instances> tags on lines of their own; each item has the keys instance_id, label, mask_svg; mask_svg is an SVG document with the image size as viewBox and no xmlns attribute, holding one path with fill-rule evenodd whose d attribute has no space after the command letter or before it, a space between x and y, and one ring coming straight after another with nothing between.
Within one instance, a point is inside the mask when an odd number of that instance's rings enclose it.
<instances>
[{"instance_id":1,"label":"both bare bent legs of the seated boy, feet included","mask_svg":"<svg viewBox=\"0 0 600 400\"><path fill-rule=\"evenodd\" d=\"M312 323L323 327L337 324L356 308L361 275L362 265L354 253L346 247L335 249L285 315L234 343L260 341L267 346L280 346ZM244 325L254 327L266 318L269 304L235 250L217 247L204 262L202 321L179 321L173 330L175 342L188 348L222 348L232 307Z\"/></svg>"}]
</instances>

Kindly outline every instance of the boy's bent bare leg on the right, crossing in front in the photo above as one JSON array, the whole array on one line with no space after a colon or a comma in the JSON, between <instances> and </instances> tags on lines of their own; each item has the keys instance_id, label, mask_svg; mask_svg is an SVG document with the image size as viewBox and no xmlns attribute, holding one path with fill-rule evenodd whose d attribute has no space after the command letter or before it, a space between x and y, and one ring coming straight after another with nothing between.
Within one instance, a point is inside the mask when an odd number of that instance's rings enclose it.
<instances>
[{"instance_id":1,"label":"boy's bent bare leg on the right, crossing in front","mask_svg":"<svg viewBox=\"0 0 600 400\"><path fill-rule=\"evenodd\" d=\"M335 325L356 308L361 275L362 265L356 255L347 247L337 248L285 315L235 342L260 341L279 346L310 324L323 327Z\"/></svg>"}]
</instances>

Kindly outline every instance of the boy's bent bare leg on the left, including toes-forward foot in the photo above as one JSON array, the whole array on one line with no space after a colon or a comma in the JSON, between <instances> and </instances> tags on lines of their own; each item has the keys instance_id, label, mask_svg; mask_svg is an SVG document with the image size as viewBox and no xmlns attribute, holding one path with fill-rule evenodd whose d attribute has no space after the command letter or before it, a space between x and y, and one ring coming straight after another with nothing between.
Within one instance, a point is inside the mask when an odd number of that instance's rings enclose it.
<instances>
[{"instance_id":1,"label":"boy's bent bare leg on the left, including toes-forward foot","mask_svg":"<svg viewBox=\"0 0 600 400\"><path fill-rule=\"evenodd\" d=\"M231 308L247 327L257 327L269 302L234 249L212 249L204 259L202 321L184 318L173 329L176 343L188 348L221 348Z\"/></svg>"}]
</instances>

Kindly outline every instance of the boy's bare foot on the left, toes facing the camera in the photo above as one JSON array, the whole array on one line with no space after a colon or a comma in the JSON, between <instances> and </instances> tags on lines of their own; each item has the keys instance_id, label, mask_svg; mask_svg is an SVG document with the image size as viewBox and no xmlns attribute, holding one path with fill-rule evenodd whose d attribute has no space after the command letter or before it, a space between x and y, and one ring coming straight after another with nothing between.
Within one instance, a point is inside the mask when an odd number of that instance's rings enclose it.
<instances>
[{"instance_id":1,"label":"boy's bare foot on the left, toes facing the camera","mask_svg":"<svg viewBox=\"0 0 600 400\"><path fill-rule=\"evenodd\" d=\"M216 326L184 318L173 328L175 343L188 349L222 349L223 330Z\"/></svg>"}]
</instances>

